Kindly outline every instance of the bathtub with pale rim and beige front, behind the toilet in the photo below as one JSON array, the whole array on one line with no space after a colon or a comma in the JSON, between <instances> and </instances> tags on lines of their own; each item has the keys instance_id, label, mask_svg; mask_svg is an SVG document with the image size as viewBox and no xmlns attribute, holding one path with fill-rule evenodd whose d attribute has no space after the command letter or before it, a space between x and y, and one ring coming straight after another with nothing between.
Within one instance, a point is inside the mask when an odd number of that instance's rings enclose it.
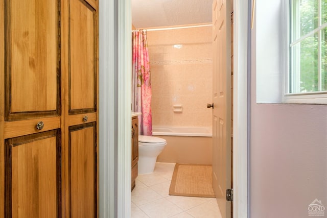
<instances>
[{"instance_id":1,"label":"bathtub with pale rim and beige front, behind the toilet","mask_svg":"<svg viewBox=\"0 0 327 218\"><path fill-rule=\"evenodd\" d=\"M167 141L157 162L212 164L211 127L153 126L152 134Z\"/></svg>"}]
</instances>

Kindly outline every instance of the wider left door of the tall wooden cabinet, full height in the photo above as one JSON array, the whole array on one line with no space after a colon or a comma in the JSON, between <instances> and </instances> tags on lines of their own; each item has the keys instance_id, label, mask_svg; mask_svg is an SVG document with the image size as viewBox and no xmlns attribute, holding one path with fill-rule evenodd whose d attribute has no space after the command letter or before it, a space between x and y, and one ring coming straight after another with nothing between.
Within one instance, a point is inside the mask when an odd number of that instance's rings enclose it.
<instances>
[{"instance_id":1,"label":"wider left door of the tall wooden cabinet, full height","mask_svg":"<svg viewBox=\"0 0 327 218\"><path fill-rule=\"evenodd\" d=\"M59 5L0 0L0 217L61 217Z\"/></svg>"}]
</instances>

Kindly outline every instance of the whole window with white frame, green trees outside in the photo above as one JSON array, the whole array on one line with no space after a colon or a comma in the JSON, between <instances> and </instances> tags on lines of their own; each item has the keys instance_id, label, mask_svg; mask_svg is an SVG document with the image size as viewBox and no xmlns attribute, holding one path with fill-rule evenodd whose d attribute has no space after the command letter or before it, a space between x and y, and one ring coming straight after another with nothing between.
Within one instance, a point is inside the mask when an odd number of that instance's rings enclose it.
<instances>
[{"instance_id":1,"label":"whole window with white frame, green trees outside","mask_svg":"<svg viewBox=\"0 0 327 218\"><path fill-rule=\"evenodd\" d=\"M327 103L327 0L289 0L286 103Z\"/></svg>"}]
</instances>

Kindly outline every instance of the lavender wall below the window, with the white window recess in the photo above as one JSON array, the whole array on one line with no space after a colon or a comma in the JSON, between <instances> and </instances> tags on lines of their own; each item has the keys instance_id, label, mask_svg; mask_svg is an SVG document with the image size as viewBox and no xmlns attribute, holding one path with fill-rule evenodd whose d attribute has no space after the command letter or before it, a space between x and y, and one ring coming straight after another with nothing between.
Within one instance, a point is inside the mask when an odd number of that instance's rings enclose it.
<instances>
[{"instance_id":1,"label":"lavender wall below the window, with the white window recess","mask_svg":"<svg viewBox=\"0 0 327 218\"><path fill-rule=\"evenodd\" d=\"M283 76L283 54L276 54L277 47L284 51L283 4L259 1L251 32L251 218L313 217L308 206L315 199L327 208L327 105L256 103L281 101L274 97L281 95L283 82L271 75ZM267 20L274 22L267 26ZM274 34L266 29L271 26Z\"/></svg>"}]
</instances>

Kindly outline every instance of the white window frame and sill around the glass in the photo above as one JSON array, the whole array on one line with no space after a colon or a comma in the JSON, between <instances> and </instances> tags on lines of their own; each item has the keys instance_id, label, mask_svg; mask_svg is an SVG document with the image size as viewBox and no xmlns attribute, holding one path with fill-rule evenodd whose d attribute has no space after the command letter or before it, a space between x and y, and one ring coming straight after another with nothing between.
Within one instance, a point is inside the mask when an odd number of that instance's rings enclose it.
<instances>
[{"instance_id":1,"label":"white window frame and sill around the glass","mask_svg":"<svg viewBox=\"0 0 327 218\"><path fill-rule=\"evenodd\" d=\"M283 87L283 96L282 96L282 103L286 104L327 104L327 91L317 91L317 92L301 92L301 93L289 93L290 92L290 32L291 32L291 17L290 11L291 8L291 1L284 1L285 5L283 8L283 14L285 15L284 23L282 23L281 27L284 26L284 66L285 66L285 75L284 75L284 87ZM321 25L320 25L321 26ZM299 77L298 77L299 79ZM293 83L294 84L294 83Z\"/></svg>"}]
</instances>

